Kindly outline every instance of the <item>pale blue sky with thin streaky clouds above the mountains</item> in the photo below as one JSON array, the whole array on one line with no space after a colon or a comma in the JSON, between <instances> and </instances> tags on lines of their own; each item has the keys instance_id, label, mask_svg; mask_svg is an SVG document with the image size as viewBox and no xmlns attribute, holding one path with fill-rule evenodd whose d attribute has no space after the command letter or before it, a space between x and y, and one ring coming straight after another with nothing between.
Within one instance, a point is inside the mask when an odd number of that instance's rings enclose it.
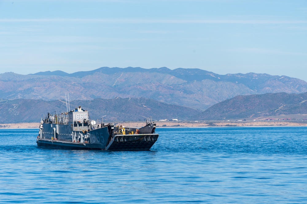
<instances>
[{"instance_id":1,"label":"pale blue sky with thin streaky clouds above the mountains","mask_svg":"<svg viewBox=\"0 0 307 204\"><path fill-rule=\"evenodd\" d=\"M104 66L307 81L307 1L0 0L0 73Z\"/></svg>"}]
</instances>

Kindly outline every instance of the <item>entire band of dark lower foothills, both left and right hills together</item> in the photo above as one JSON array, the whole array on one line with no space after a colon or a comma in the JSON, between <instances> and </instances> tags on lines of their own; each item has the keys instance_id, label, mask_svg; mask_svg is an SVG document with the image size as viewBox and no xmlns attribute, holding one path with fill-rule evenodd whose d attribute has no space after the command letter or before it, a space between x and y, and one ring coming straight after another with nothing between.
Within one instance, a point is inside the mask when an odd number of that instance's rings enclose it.
<instances>
[{"instance_id":1,"label":"entire band of dark lower foothills, both left and right hills together","mask_svg":"<svg viewBox=\"0 0 307 204\"><path fill-rule=\"evenodd\" d=\"M75 100L70 109L82 106L91 119L105 121L153 120L231 120L255 119L279 115L307 114L307 92L304 94L268 93L236 96L217 103L205 111L170 105L148 98L114 98ZM66 111L64 100L0 99L0 123L38 122L46 113Z\"/></svg>"}]
</instances>

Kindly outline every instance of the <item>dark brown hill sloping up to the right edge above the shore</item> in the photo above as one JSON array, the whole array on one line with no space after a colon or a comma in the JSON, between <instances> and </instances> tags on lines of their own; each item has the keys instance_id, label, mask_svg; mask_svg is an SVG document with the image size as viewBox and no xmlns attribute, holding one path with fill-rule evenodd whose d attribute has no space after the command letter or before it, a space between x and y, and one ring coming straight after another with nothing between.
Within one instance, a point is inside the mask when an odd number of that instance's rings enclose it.
<instances>
[{"instance_id":1,"label":"dark brown hill sloping up to the right edge above the shore","mask_svg":"<svg viewBox=\"0 0 307 204\"><path fill-rule=\"evenodd\" d=\"M202 114L204 120L307 114L307 93L236 96L211 106Z\"/></svg>"}]
</instances>

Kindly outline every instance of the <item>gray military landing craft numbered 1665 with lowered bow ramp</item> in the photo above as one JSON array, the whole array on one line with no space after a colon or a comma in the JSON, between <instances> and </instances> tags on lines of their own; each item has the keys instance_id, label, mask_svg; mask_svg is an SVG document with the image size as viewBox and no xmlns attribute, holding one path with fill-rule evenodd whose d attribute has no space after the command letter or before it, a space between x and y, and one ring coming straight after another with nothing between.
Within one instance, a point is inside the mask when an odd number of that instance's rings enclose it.
<instances>
[{"instance_id":1,"label":"gray military landing craft numbered 1665 with lowered bow ramp","mask_svg":"<svg viewBox=\"0 0 307 204\"><path fill-rule=\"evenodd\" d=\"M87 111L69 111L44 115L39 127L37 146L63 149L149 150L158 139L151 117L142 128L99 125Z\"/></svg>"}]
</instances>

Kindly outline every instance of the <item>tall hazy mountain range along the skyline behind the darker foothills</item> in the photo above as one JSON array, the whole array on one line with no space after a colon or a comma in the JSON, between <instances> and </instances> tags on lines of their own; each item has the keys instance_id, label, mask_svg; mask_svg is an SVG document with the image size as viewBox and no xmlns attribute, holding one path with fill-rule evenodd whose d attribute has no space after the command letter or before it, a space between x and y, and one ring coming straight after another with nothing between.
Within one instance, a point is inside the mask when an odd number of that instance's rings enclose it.
<instances>
[{"instance_id":1,"label":"tall hazy mountain range along the skyline behind the darker foothills","mask_svg":"<svg viewBox=\"0 0 307 204\"><path fill-rule=\"evenodd\" d=\"M201 69L102 67L92 71L0 74L0 96L6 99L151 98L159 102L205 110L237 95L303 93L307 83L268 74L219 75Z\"/></svg>"}]
</instances>

